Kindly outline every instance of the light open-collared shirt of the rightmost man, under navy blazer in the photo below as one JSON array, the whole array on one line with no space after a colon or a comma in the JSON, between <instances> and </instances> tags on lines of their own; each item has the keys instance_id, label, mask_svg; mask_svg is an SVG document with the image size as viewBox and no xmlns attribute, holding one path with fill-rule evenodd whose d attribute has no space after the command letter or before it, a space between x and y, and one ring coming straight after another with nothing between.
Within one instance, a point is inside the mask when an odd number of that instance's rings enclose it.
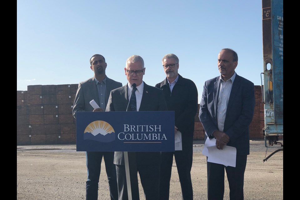
<instances>
[{"instance_id":1,"label":"light open-collared shirt of the rightmost man, under navy blazer","mask_svg":"<svg viewBox=\"0 0 300 200\"><path fill-rule=\"evenodd\" d=\"M234 73L232 77L228 79L226 82L222 79L222 76L220 78L220 90L219 90L219 98L218 98L218 105L217 105L217 122L218 122L219 131L224 130L226 110L227 110L232 84L235 79L235 75L236 73Z\"/></svg>"}]
</instances>

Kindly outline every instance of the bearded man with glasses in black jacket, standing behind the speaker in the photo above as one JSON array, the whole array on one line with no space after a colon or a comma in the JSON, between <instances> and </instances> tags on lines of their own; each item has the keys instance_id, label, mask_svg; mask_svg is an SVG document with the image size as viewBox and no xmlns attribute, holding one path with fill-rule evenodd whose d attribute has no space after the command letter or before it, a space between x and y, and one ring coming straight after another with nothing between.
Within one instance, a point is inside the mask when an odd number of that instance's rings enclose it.
<instances>
[{"instance_id":1,"label":"bearded man with glasses in black jacket, standing behind the speaker","mask_svg":"<svg viewBox=\"0 0 300 200\"><path fill-rule=\"evenodd\" d=\"M160 171L160 200L168 200L173 156L181 185L182 199L193 199L191 168L193 160L193 135L195 115L198 110L198 91L195 83L178 74L179 59L167 54L162 59L166 79L156 84L163 90L168 111L175 111L175 133L182 134L182 151L162 152Z\"/></svg>"}]
</instances>

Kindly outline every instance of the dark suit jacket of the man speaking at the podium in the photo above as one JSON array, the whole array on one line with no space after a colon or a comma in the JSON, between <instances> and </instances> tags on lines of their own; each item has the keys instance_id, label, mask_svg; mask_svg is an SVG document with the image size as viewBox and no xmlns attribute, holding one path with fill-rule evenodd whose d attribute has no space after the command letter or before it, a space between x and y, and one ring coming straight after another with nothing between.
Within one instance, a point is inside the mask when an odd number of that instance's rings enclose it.
<instances>
[{"instance_id":1,"label":"dark suit jacket of the man speaking at the podium","mask_svg":"<svg viewBox=\"0 0 300 200\"><path fill-rule=\"evenodd\" d=\"M126 111L128 106L128 84L112 90L110 93L106 111ZM143 97L139 111L167 111L163 92L158 88L147 85L144 82ZM137 164L160 164L160 152L137 152ZM115 152L114 164L125 165L123 152Z\"/></svg>"}]
</instances>

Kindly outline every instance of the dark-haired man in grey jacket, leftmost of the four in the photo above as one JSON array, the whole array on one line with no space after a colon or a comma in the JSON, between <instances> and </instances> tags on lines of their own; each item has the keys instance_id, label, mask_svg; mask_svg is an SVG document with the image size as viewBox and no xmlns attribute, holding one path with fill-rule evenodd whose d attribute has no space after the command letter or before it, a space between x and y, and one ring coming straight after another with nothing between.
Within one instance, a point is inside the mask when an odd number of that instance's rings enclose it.
<instances>
[{"instance_id":1,"label":"dark-haired man in grey jacket, leftmost of the four","mask_svg":"<svg viewBox=\"0 0 300 200\"><path fill-rule=\"evenodd\" d=\"M95 54L90 59L91 70L94 76L78 84L73 116L76 118L77 112L105 111L110 92L122 86L122 83L108 78L105 74L107 63L100 54ZM90 101L95 100L100 108L94 109ZM113 164L114 152L86 152L88 180L86 182L86 199L98 199L98 183L101 170L102 157L105 162L105 169L108 178L111 200L118 199L116 167Z\"/></svg>"}]
</instances>

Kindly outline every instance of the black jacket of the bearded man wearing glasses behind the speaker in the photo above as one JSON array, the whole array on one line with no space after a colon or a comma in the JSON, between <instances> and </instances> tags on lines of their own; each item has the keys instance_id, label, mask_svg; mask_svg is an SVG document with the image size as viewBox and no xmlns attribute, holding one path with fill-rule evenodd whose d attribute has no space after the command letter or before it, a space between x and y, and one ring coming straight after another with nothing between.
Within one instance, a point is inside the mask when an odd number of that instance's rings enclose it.
<instances>
[{"instance_id":1,"label":"black jacket of the bearded man wearing glasses behind the speaker","mask_svg":"<svg viewBox=\"0 0 300 200\"><path fill-rule=\"evenodd\" d=\"M175 111L175 126L182 137L194 135L195 115L198 110L198 91L192 80L178 74L172 93L167 78L155 85L163 90L169 111Z\"/></svg>"}]
</instances>

